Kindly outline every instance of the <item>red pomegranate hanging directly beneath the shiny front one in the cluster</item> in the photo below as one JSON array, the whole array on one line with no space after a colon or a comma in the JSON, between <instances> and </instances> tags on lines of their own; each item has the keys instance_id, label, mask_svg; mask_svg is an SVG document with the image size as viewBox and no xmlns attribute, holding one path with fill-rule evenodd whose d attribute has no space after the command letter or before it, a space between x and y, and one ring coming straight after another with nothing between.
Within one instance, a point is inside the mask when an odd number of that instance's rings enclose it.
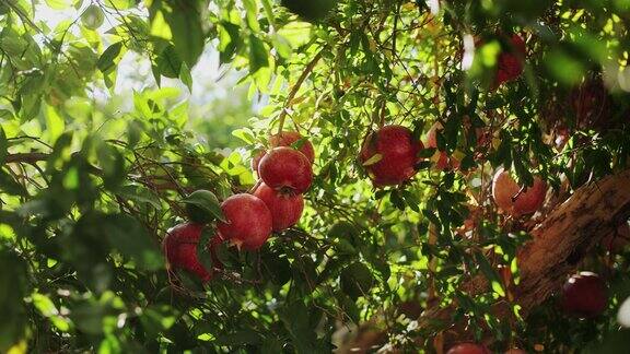
<instances>
[{"instance_id":1,"label":"red pomegranate hanging directly beneath the shiny front one in the cluster","mask_svg":"<svg viewBox=\"0 0 630 354\"><path fill-rule=\"evenodd\" d=\"M284 193L261 184L254 192L254 196L260 198L269 208L275 232L281 232L298 224L300 216L302 216L302 211L304 210L304 198L302 194Z\"/></svg>"}]
</instances>

